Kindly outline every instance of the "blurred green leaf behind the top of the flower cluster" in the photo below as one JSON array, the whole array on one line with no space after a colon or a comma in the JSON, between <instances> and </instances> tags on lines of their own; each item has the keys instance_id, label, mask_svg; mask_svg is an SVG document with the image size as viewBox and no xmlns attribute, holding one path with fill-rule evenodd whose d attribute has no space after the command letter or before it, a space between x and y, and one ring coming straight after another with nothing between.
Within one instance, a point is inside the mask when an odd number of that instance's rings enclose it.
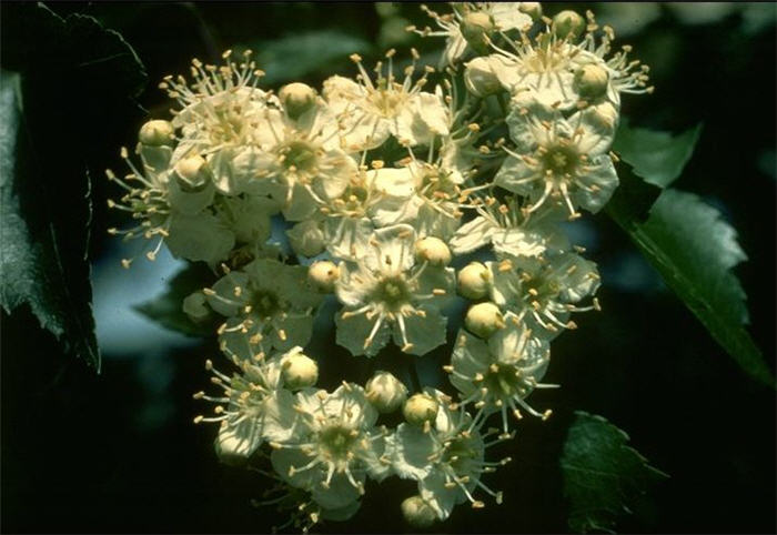
<instances>
[{"instance_id":1,"label":"blurred green leaf behind the top of the flower cluster","mask_svg":"<svg viewBox=\"0 0 777 535\"><path fill-rule=\"evenodd\" d=\"M255 47L256 62L266 72L263 82L269 85L330 73L340 63L349 64L352 53L364 54L372 48L363 39L337 30L294 33Z\"/></svg>"}]
</instances>

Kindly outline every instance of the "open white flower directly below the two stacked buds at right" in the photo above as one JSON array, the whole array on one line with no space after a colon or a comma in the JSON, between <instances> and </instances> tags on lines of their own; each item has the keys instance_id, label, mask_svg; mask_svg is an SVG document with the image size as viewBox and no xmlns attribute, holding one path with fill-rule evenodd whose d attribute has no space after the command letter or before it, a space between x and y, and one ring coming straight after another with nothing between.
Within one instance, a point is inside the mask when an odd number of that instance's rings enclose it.
<instances>
[{"instance_id":1,"label":"open white flower directly below the two stacked buds at right","mask_svg":"<svg viewBox=\"0 0 777 535\"><path fill-rule=\"evenodd\" d=\"M542 380L551 359L546 341L532 336L525 325L508 326L487 341L460 331L457 344L445 370L451 383L461 392L462 404L473 403L485 414L500 412L502 428L507 433L507 410L521 418L518 406L534 416L546 418L524 400L534 388L552 387Z\"/></svg>"}]
</instances>

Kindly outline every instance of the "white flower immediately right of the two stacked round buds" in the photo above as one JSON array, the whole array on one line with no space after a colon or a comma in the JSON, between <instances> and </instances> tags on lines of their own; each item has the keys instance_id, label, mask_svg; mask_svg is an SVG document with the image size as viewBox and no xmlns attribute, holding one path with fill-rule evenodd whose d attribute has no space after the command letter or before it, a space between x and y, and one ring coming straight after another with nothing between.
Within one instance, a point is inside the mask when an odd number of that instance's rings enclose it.
<instances>
[{"instance_id":1,"label":"white flower immediately right of the two stacked round buds","mask_svg":"<svg viewBox=\"0 0 777 535\"><path fill-rule=\"evenodd\" d=\"M561 253L542 262L505 259L486 262L492 272L491 300L505 312L506 322L526 322L535 336L552 340L559 329L575 329L571 312L598 310L598 301L579 306L599 286L596 264L575 253Z\"/></svg>"}]
</instances>

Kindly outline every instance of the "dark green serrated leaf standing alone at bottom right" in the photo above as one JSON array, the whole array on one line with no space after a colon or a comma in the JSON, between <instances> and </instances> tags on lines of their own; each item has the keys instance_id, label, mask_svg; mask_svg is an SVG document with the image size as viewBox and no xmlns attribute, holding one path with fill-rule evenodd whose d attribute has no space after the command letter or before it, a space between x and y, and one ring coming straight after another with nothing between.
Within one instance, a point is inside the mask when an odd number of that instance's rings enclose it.
<instances>
[{"instance_id":1,"label":"dark green serrated leaf standing alone at bottom right","mask_svg":"<svg viewBox=\"0 0 777 535\"><path fill-rule=\"evenodd\" d=\"M640 495L668 477L626 445L628 435L602 416L575 412L561 457L569 528L613 532Z\"/></svg>"}]
</instances>

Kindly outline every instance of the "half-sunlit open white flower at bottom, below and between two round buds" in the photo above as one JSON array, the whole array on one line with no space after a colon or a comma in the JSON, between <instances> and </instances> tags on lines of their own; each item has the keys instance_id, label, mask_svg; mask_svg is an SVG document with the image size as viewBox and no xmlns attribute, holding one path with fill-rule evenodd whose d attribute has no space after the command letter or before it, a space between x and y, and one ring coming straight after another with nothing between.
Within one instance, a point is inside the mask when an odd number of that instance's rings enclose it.
<instances>
[{"instance_id":1,"label":"half-sunlit open white flower at bottom, below and between two round buds","mask_svg":"<svg viewBox=\"0 0 777 535\"><path fill-rule=\"evenodd\" d=\"M331 394L303 390L295 411L292 437L271 443L272 465L290 485L310 491L322 507L340 508L364 494L367 475L389 475L385 430L375 428L377 412L361 386L343 383Z\"/></svg>"}]
</instances>

